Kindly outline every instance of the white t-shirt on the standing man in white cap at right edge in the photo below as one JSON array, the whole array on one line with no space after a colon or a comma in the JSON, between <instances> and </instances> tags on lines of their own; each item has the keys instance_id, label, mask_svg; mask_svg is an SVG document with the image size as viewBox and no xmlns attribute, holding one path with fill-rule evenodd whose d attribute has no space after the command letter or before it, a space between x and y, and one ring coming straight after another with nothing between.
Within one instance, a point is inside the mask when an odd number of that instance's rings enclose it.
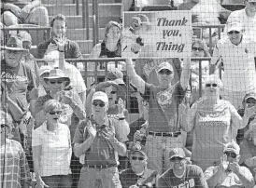
<instances>
[{"instance_id":1,"label":"white t-shirt on the standing man in white cap at right edge","mask_svg":"<svg viewBox=\"0 0 256 188\"><path fill-rule=\"evenodd\" d=\"M256 43L248 37L243 37L241 43L235 46L230 39L220 39L214 47L211 64L224 65L222 76L223 87L232 91L249 91L255 88Z\"/></svg>"}]
</instances>

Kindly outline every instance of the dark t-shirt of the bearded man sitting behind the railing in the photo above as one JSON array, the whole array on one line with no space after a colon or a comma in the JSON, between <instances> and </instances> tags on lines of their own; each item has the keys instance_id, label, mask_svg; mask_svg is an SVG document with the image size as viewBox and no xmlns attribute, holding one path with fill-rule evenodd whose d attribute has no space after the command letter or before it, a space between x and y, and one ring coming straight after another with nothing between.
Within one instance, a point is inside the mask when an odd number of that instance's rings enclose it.
<instances>
[{"instance_id":1,"label":"dark t-shirt of the bearded man sitting behind the railing","mask_svg":"<svg viewBox=\"0 0 256 188\"><path fill-rule=\"evenodd\" d=\"M37 47L37 58L42 59L47 51L50 43L54 43L52 38L50 40L40 43ZM82 59L82 54L80 48L78 47L78 43L76 41L72 41L66 39L66 44L64 45L64 58L65 59Z\"/></svg>"}]
</instances>

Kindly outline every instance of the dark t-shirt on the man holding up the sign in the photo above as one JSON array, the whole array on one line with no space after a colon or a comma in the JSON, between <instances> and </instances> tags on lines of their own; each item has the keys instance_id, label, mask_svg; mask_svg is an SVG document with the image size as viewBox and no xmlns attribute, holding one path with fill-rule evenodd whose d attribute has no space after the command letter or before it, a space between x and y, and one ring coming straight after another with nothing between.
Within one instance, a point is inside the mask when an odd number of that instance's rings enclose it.
<instances>
[{"instance_id":1,"label":"dark t-shirt on the man holding up the sign","mask_svg":"<svg viewBox=\"0 0 256 188\"><path fill-rule=\"evenodd\" d=\"M165 90L149 83L145 85L144 100L149 101L149 131L173 132L180 130L178 104L183 100L185 91L179 84Z\"/></svg>"}]
</instances>

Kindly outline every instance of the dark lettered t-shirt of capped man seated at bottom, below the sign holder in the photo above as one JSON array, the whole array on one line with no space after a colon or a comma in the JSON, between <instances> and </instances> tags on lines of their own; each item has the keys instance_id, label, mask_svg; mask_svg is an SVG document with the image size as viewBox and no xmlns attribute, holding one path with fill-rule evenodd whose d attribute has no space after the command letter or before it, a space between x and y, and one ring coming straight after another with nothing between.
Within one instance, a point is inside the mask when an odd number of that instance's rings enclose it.
<instances>
[{"instance_id":1,"label":"dark lettered t-shirt of capped man seated at bottom, below the sign holder","mask_svg":"<svg viewBox=\"0 0 256 188\"><path fill-rule=\"evenodd\" d=\"M207 188L207 182L202 168L195 165L187 165L183 178L177 178L173 169L168 169L158 180L158 186L161 188Z\"/></svg>"}]
</instances>

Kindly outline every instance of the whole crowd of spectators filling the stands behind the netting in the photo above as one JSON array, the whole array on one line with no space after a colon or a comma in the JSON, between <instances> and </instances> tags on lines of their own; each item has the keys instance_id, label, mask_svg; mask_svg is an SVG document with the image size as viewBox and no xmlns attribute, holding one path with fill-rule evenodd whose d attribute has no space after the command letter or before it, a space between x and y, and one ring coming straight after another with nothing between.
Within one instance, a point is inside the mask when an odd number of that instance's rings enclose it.
<instances>
[{"instance_id":1,"label":"whole crowd of spectators filling the stands behind the netting","mask_svg":"<svg viewBox=\"0 0 256 188\"><path fill-rule=\"evenodd\" d=\"M122 3L192 10L197 26L227 22L220 39L192 36L191 60L149 59L145 14L124 28L111 20L90 58L130 58L88 66L66 61L83 57L62 14L37 44L41 60L30 34L11 34L1 45L1 187L254 187L256 1L233 12L218 0ZM2 25L26 23L49 26L39 0L1 2ZM85 67L106 74L86 80Z\"/></svg>"}]
</instances>

